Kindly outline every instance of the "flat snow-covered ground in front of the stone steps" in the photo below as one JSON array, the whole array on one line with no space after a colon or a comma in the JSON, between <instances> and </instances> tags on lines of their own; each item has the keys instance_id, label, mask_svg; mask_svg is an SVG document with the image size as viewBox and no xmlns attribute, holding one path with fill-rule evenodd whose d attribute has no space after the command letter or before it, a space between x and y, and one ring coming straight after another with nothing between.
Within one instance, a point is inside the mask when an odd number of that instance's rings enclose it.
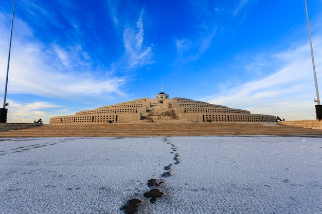
<instances>
[{"instance_id":1,"label":"flat snow-covered ground in front of the stone steps","mask_svg":"<svg viewBox=\"0 0 322 214\"><path fill-rule=\"evenodd\" d=\"M0 213L133 213L132 202L136 213L322 213L322 138L0 139Z\"/></svg>"}]
</instances>

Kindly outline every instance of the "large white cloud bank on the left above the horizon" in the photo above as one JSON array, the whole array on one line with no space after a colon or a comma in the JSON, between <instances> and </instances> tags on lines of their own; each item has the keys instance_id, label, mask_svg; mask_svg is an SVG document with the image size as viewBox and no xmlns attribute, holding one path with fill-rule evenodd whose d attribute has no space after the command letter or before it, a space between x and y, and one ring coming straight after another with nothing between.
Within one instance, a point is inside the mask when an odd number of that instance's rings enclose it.
<instances>
[{"instance_id":1,"label":"large white cloud bank on the left above the horizon","mask_svg":"<svg viewBox=\"0 0 322 214\"><path fill-rule=\"evenodd\" d=\"M0 21L3 21L1 19ZM16 18L20 25L28 25ZM0 31L8 35L9 29L0 22ZM8 45L0 42L1 70L6 69ZM83 99L84 96L117 93L126 77L97 75L105 69L96 64L82 46L63 47L59 44L45 45L28 34L14 33L11 50L9 93L24 93L61 99ZM0 73L4 82L5 72Z\"/></svg>"}]
</instances>

